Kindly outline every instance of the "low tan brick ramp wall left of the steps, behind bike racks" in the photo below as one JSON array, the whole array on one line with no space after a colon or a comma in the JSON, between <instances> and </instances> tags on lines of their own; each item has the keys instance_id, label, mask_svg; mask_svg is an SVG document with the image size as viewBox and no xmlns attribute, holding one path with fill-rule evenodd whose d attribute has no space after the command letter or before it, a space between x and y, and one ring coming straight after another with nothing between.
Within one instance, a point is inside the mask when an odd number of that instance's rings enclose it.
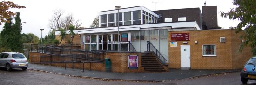
<instances>
[{"instance_id":1,"label":"low tan brick ramp wall left of the steps, behind bike racks","mask_svg":"<svg viewBox=\"0 0 256 85\"><path fill-rule=\"evenodd\" d=\"M49 55L38 52L30 52L31 56ZM138 55L138 69L128 69L128 55ZM111 71L120 73L134 73L134 72L144 72L144 67L141 66L141 52L107 52L106 58L110 58L111 61ZM40 57L33 58L33 62L30 63L40 63ZM65 63L42 63L46 65L65 67ZM72 63L67 63L67 67L72 67ZM80 68L79 63L75 63L75 68ZM89 63L84 64L85 69L89 69ZM104 62L91 63L91 70L105 71Z\"/></svg>"}]
</instances>

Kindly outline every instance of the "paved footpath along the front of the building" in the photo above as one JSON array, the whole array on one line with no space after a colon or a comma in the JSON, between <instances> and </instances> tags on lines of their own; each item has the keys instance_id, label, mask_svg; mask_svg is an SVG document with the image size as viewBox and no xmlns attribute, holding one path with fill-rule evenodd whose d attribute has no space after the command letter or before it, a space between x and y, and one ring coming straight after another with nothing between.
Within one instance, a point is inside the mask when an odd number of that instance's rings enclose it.
<instances>
[{"instance_id":1,"label":"paved footpath along the front of the building","mask_svg":"<svg viewBox=\"0 0 256 85\"><path fill-rule=\"evenodd\" d=\"M238 72L240 70L179 70L169 69L168 72L144 72L144 73L113 73L113 72L101 72L101 71L89 71L80 69L73 69L65 67L55 67L40 64L30 63L28 69L41 70L51 73L59 73L65 75L82 76L88 78L99 79L117 79L117 80L136 80L136 81L169 81L176 79L187 79L196 76L216 74L216 73L229 73Z\"/></svg>"}]
</instances>

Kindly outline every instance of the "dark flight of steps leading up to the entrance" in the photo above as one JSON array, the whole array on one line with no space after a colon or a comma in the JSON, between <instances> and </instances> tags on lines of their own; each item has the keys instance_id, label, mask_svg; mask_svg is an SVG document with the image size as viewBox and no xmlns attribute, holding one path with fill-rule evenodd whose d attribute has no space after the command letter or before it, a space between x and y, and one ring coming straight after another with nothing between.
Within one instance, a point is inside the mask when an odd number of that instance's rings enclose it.
<instances>
[{"instance_id":1,"label":"dark flight of steps leading up to the entrance","mask_svg":"<svg viewBox=\"0 0 256 85\"><path fill-rule=\"evenodd\" d=\"M142 67L149 72L166 71L152 52L142 53Z\"/></svg>"}]
</instances>

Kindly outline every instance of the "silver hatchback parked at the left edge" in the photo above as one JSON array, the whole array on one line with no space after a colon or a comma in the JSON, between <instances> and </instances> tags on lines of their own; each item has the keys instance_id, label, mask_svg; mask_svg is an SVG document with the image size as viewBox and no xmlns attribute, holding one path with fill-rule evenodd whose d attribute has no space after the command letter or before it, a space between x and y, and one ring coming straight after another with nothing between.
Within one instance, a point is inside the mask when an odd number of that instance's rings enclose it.
<instances>
[{"instance_id":1,"label":"silver hatchback parked at the left edge","mask_svg":"<svg viewBox=\"0 0 256 85\"><path fill-rule=\"evenodd\" d=\"M18 52L2 52L0 53L0 67L5 67L7 71L12 68L21 68L26 70L28 66L27 58Z\"/></svg>"}]
</instances>

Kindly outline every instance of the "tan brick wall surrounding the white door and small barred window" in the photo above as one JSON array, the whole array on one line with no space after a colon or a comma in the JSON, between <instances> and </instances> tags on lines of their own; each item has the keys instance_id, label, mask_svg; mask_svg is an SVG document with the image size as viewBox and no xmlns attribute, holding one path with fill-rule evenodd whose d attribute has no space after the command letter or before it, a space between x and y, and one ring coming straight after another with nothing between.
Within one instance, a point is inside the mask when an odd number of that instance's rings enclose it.
<instances>
[{"instance_id":1,"label":"tan brick wall surrounding the white door and small barred window","mask_svg":"<svg viewBox=\"0 0 256 85\"><path fill-rule=\"evenodd\" d=\"M249 46L245 46L239 52L243 32L235 33L235 30L191 30L191 31L168 31L171 33L189 33L189 41L168 40L169 68L181 68L181 45L190 45L190 68L191 69L240 69L244 63L252 57ZM221 43L220 37L225 37L226 42ZM198 43L195 44L195 41ZM177 47L170 47L170 42L177 42ZM187 42L187 44L183 44ZM216 56L203 56L203 45L216 45Z\"/></svg>"}]
</instances>

